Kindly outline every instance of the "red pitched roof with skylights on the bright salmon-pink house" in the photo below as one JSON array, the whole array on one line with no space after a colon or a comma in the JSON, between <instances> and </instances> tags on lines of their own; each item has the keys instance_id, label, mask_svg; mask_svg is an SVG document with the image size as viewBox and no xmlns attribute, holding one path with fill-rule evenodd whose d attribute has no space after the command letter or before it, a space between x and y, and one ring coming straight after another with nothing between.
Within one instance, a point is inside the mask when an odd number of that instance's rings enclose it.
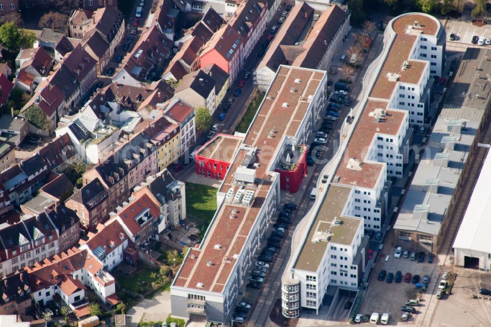
<instances>
[{"instance_id":1,"label":"red pitched roof with skylights on the bright salmon-pink house","mask_svg":"<svg viewBox=\"0 0 491 327\"><path fill-rule=\"evenodd\" d=\"M237 53L243 40L244 38L237 30L235 30L235 28L226 24L213 34L210 41L204 45L200 56L212 50L216 50L223 58L225 58L225 60L230 61Z\"/></svg>"}]
</instances>

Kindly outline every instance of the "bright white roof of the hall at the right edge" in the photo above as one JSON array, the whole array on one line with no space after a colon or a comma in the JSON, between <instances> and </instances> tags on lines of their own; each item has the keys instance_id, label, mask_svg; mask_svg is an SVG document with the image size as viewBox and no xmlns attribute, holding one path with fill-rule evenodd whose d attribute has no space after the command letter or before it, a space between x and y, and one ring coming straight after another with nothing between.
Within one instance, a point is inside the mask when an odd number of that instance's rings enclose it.
<instances>
[{"instance_id":1,"label":"bright white roof of the hall at the right edge","mask_svg":"<svg viewBox=\"0 0 491 327\"><path fill-rule=\"evenodd\" d=\"M491 152L488 152L452 247L491 253L490 180Z\"/></svg>"}]
</instances>

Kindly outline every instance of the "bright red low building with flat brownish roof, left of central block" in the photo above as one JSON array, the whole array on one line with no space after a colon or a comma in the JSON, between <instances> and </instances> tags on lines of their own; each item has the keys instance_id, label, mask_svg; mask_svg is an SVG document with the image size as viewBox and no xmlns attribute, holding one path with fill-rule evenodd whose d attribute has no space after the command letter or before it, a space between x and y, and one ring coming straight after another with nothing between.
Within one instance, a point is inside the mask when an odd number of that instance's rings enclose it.
<instances>
[{"instance_id":1,"label":"bright red low building with flat brownish roof, left of central block","mask_svg":"<svg viewBox=\"0 0 491 327\"><path fill-rule=\"evenodd\" d=\"M195 154L196 174L223 179L243 141L240 136L218 134L206 142Z\"/></svg>"}]
</instances>

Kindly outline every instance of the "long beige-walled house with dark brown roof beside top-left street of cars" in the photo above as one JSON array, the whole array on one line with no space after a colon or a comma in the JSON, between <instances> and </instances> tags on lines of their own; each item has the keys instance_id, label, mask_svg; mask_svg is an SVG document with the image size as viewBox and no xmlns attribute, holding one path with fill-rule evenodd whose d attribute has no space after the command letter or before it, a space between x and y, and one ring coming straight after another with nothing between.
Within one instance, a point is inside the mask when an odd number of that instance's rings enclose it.
<instances>
[{"instance_id":1,"label":"long beige-walled house with dark brown roof beside top-left street of cars","mask_svg":"<svg viewBox=\"0 0 491 327\"><path fill-rule=\"evenodd\" d=\"M83 49L97 61L97 74L101 75L121 44L125 24L123 13L117 8L97 9L91 25L83 33Z\"/></svg>"}]
</instances>

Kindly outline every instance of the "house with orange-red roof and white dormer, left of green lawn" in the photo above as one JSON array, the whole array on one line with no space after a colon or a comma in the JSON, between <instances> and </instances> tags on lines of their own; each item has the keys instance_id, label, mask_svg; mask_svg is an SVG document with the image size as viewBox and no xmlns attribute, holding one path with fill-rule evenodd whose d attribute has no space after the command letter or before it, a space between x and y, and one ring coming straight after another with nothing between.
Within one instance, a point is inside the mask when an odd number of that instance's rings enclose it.
<instances>
[{"instance_id":1,"label":"house with orange-red roof and white dormer, left of green lawn","mask_svg":"<svg viewBox=\"0 0 491 327\"><path fill-rule=\"evenodd\" d=\"M158 239L158 226L160 223L164 226L159 202L148 194L130 196L128 202L123 202L122 207L109 215L111 218L106 225L119 224L136 248L148 244L150 239Z\"/></svg>"}]
</instances>

